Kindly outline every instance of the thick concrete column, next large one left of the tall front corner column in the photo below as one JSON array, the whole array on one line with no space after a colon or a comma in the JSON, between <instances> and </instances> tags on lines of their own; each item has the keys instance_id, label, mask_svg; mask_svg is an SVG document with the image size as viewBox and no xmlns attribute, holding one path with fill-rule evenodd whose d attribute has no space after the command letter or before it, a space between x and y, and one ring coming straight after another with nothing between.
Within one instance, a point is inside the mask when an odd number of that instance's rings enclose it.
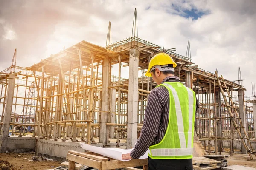
<instances>
[{"instance_id":1,"label":"thick concrete column, next large one left of the tall front corner column","mask_svg":"<svg viewBox=\"0 0 256 170\"><path fill-rule=\"evenodd\" d=\"M102 65L102 106L101 106L101 122L100 122L100 136L99 136L99 142L103 143L104 145L107 144L107 127L106 122L108 122L108 86L110 84L109 77L110 75L110 62L109 59L103 59L103 65Z\"/></svg>"}]
</instances>

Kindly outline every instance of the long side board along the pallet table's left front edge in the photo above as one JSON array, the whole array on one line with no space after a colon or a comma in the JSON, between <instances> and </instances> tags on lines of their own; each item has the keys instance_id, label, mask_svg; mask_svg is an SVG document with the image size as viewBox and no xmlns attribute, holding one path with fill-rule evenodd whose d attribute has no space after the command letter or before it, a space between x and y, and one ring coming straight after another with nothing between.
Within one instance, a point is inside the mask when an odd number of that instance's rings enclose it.
<instances>
[{"instance_id":1,"label":"long side board along the pallet table's left front edge","mask_svg":"<svg viewBox=\"0 0 256 170\"><path fill-rule=\"evenodd\" d=\"M89 167L94 167L94 168L97 168L97 169L101 169L101 162L100 161L84 158L84 157L73 155L73 154L70 154L70 153L67 153L67 158L66 159L69 160L69 161L79 163L79 164L87 165Z\"/></svg>"}]
</instances>

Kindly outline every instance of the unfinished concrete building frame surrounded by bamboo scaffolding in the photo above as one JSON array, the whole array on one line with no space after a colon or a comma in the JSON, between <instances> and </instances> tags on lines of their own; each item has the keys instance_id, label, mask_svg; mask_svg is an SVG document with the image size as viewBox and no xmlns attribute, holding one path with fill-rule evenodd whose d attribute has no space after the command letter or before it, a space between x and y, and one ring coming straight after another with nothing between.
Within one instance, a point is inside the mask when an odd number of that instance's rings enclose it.
<instances>
[{"instance_id":1,"label":"unfinished concrete building frame surrounded by bamboo scaffolding","mask_svg":"<svg viewBox=\"0 0 256 170\"><path fill-rule=\"evenodd\" d=\"M195 134L204 150L221 154L229 147L232 154L236 148L256 159L256 97L244 97L241 79L202 70L189 55L139 38L136 29L112 44L109 26L106 47L83 40L26 68L16 65L15 50L12 66L0 72L1 152L36 148L61 160L68 150L81 150L79 142L134 147L148 95L156 87L144 73L151 57L165 52L177 63L175 75L200 103ZM128 79L121 76L126 66ZM24 135L25 130L33 135Z\"/></svg>"}]
</instances>

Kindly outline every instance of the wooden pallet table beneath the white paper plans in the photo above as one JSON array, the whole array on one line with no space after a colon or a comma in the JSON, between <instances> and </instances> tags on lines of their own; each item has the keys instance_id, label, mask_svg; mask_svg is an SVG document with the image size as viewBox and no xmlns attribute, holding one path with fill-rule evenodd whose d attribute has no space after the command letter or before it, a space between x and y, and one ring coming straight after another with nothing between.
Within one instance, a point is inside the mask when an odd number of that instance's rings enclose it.
<instances>
[{"instance_id":1,"label":"wooden pallet table beneath the white paper plans","mask_svg":"<svg viewBox=\"0 0 256 170\"><path fill-rule=\"evenodd\" d=\"M75 163L87 165L99 170L115 170L125 167L140 167L143 166L148 170L148 159L132 159L130 161L119 161L108 158L93 152L77 152L68 151L67 160L69 161L69 170L75 170Z\"/></svg>"}]
</instances>

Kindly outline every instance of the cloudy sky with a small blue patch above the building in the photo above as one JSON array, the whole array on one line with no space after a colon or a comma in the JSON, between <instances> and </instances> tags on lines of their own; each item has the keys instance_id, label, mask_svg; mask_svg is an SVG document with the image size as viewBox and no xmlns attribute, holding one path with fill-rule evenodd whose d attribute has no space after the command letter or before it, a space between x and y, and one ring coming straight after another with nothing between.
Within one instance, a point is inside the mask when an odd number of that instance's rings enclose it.
<instances>
[{"instance_id":1,"label":"cloudy sky with a small blue patch above the building","mask_svg":"<svg viewBox=\"0 0 256 170\"><path fill-rule=\"evenodd\" d=\"M12 63L31 66L82 40L105 47L131 37L137 8L138 37L186 56L225 79L238 79L252 95L256 82L255 0L1 0L0 71ZM128 71L128 67L122 68ZM122 77L128 74L122 71Z\"/></svg>"}]
</instances>

